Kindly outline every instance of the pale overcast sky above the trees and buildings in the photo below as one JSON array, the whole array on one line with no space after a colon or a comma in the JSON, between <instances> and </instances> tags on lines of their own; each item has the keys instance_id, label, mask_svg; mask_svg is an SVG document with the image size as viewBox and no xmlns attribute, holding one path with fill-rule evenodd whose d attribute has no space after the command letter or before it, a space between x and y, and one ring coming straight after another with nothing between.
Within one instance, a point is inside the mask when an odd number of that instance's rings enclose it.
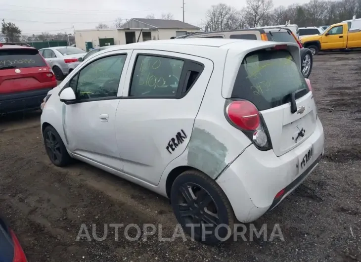
<instances>
[{"instance_id":1,"label":"pale overcast sky above the trees and buildings","mask_svg":"<svg viewBox=\"0 0 361 262\"><path fill-rule=\"evenodd\" d=\"M309 0L273 0L273 6L303 4ZM246 0L184 0L184 22L201 26L207 9L218 3L242 9ZM0 20L15 23L22 34L73 33L93 29L99 23L113 26L117 17L144 18L172 13L182 21L182 0L0 0ZM203 20L203 21L202 21ZM292 21L291 21L292 22Z\"/></svg>"}]
</instances>

